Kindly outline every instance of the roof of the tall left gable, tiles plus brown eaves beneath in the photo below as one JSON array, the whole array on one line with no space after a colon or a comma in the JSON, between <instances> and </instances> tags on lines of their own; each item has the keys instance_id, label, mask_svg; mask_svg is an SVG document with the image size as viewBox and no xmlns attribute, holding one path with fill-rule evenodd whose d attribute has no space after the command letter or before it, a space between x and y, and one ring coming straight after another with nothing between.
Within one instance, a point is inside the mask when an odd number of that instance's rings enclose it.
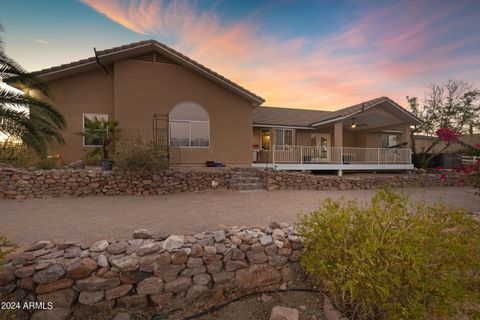
<instances>
[{"instance_id":1,"label":"roof of the tall left gable, tiles plus brown eaves beneath","mask_svg":"<svg viewBox=\"0 0 480 320\"><path fill-rule=\"evenodd\" d=\"M167 58L177 62L180 65L183 65L209 78L210 80L224 86L225 88L233 91L234 93L241 95L247 100L250 100L255 106L261 105L263 102L265 102L262 97L257 96L256 94L245 89L239 84L228 80L227 78L216 73L215 71L205 67L204 65L190 59L189 57L156 40L139 41L119 47L114 47L111 49L97 51L97 56L100 62L102 62L102 64L108 65L113 61L130 58L139 54L147 53L148 51L152 50L166 56ZM37 75L40 78L44 78L45 80L50 80L86 70L91 70L97 67L100 68L96 61L96 58L90 57L87 59L82 59L71 63L35 71L33 72L33 74Z\"/></svg>"}]
</instances>

